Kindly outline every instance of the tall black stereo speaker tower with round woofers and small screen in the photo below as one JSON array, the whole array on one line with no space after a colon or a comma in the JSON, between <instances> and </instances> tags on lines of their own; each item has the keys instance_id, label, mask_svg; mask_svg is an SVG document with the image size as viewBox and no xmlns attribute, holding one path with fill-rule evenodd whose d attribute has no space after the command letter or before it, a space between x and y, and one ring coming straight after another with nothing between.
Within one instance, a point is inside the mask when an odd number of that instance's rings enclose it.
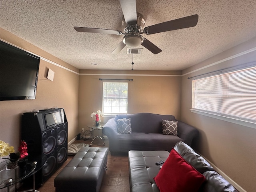
<instances>
[{"instance_id":1,"label":"tall black stereo speaker tower with round woofers and small screen","mask_svg":"<svg viewBox=\"0 0 256 192\"><path fill-rule=\"evenodd\" d=\"M41 186L67 160L68 122L63 108L27 112L22 115L21 138L31 160L44 166L36 172Z\"/></svg>"}]
</instances>

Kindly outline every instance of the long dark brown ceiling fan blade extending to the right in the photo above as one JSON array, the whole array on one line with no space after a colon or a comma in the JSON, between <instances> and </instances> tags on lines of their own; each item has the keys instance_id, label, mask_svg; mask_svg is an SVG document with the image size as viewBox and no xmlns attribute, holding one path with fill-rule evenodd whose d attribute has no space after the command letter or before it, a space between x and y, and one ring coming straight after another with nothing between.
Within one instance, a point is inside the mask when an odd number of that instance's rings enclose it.
<instances>
[{"instance_id":1,"label":"long dark brown ceiling fan blade extending to the right","mask_svg":"<svg viewBox=\"0 0 256 192\"><path fill-rule=\"evenodd\" d=\"M198 22L198 15L191 15L144 28L144 33L147 35L172 31L177 29L189 28L196 26Z\"/></svg>"}]
</instances>

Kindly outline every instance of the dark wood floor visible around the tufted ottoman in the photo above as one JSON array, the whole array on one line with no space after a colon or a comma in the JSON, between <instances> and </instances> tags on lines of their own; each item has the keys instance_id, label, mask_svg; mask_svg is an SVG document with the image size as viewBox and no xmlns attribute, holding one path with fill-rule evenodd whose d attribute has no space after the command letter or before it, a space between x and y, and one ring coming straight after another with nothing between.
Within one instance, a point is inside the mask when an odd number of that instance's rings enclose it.
<instances>
[{"instance_id":1,"label":"dark wood floor visible around the tufted ottoman","mask_svg":"<svg viewBox=\"0 0 256 192\"><path fill-rule=\"evenodd\" d=\"M90 140L76 140L73 142L90 144ZM102 146L102 140L96 139L92 147L108 147L108 140L105 140L105 146ZM73 156L68 156L68 160L53 174L38 190L40 192L55 192L54 178L68 164ZM104 175L100 192L130 192L129 172L128 172L128 156L111 156L108 153L108 170Z\"/></svg>"}]
</instances>

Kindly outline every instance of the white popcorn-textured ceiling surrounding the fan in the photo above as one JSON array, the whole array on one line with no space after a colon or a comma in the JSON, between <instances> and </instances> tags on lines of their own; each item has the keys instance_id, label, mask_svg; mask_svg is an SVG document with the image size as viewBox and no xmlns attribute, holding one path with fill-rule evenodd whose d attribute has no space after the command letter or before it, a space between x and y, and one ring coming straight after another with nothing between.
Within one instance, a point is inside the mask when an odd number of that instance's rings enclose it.
<instances>
[{"instance_id":1,"label":"white popcorn-textured ceiling surrounding the fan","mask_svg":"<svg viewBox=\"0 0 256 192\"><path fill-rule=\"evenodd\" d=\"M137 0L145 27L198 14L192 28L146 35L162 52L143 46L134 70L183 70L256 36L255 0ZM130 70L123 35L81 33L74 26L123 31L118 0L1 0L1 27L78 69ZM98 65L94 66L92 63Z\"/></svg>"}]
</instances>

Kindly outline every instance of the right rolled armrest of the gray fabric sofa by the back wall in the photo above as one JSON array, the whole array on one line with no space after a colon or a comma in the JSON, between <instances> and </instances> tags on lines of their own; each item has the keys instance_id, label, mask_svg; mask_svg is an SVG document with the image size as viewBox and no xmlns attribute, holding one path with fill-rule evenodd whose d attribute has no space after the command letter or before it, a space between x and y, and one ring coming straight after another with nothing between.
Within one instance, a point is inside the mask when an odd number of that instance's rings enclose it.
<instances>
[{"instance_id":1,"label":"right rolled armrest of the gray fabric sofa by the back wall","mask_svg":"<svg viewBox=\"0 0 256 192\"><path fill-rule=\"evenodd\" d=\"M184 143L192 146L192 140L199 135L199 131L184 122L178 121L178 137L184 139Z\"/></svg>"}]
</instances>

